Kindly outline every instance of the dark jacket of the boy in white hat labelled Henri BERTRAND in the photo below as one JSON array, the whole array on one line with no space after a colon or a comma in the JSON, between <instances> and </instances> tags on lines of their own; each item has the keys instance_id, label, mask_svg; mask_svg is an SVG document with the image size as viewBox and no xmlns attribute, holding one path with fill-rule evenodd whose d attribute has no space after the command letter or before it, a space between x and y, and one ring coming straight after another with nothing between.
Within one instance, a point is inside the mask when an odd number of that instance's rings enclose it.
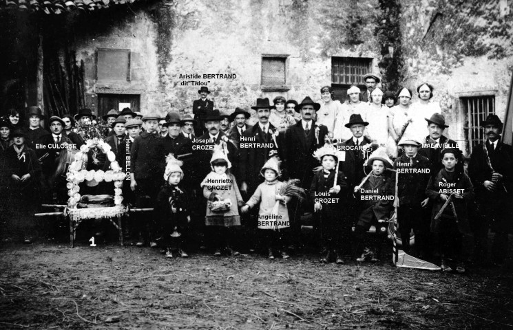
<instances>
[{"instance_id":1,"label":"dark jacket of the boy in white hat labelled Henri BERTRAND","mask_svg":"<svg viewBox=\"0 0 513 330\"><path fill-rule=\"evenodd\" d=\"M401 157L395 159L394 168L430 168L429 159L423 155L415 155L413 157L413 164L411 166L404 166L404 163L410 163L410 158L403 153ZM399 166L399 163L401 165ZM426 199L426 187L431 174L424 173L399 173L399 180L397 182L397 196L399 196L399 205L411 203L412 205L420 207L421 201Z\"/></svg>"}]
</instances>

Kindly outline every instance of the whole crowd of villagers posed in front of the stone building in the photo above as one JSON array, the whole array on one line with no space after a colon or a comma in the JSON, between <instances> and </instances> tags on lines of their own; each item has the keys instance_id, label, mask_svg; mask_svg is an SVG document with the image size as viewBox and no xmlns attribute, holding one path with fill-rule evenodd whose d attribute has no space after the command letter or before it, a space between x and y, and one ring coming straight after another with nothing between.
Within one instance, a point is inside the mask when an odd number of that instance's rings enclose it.
<instances>
[{"instance_id":1,"label":"whole crowd of villagers posed in front of the stone building","mask_svg":"<svg viewBox=\"0 0 513 330\"><path fill-rule=\"evenodd\" d=\"M123 203L154 209L127 219L125 234L167 257L187 257L199 237L216 256L260 248L270 259L287 259L302 245L302 219L311 214L320 262L344 264L348 256L376 261L383 242L369 228L395 217L402 250L443 270L465 272L462 238L469 233L474 261L487 260L490 226L492 261L502 263L513 215L513 148L501 142L501 120L486 118L486 141L473 146L468 161L463 144L443 135L448 125L430 84L419 85L412 102L406 87L384 92L378 76L364 79L368 89L350 87L346 102L334 100L329 86L320 89L321 103L258 98L253 118L241 108L214 109L207 87L193 115L109 111L105 139L127 173ZM46 121L50 133L41 127L41 109L25 112L28 127L18 110L0 122L0 184L9 191L1 207L12 208L11 216L33 212L26 202L41 202L36 196L66 202L56 159L80 148L97 119L90 109L54 116ZM85 168L110 164L92 149ZM82 195L114 189L94 180L82 186Z\"/></svg>"}]
</instances>

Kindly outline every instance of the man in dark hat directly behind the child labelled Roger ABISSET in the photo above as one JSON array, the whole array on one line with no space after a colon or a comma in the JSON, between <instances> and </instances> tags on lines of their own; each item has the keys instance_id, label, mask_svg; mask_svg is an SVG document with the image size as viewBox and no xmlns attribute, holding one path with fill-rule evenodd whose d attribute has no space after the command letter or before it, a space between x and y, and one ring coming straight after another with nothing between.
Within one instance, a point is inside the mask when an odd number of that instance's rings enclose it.
<instances>
[{"instance_id":1,"label":"man in dark hat directly behind the child labelled Roger ABISSET","mask_svg":"<svg viewBox=\"0 0 513 330\"><path fill-rule=\"evenodd\" d=\"M446 125L446 118L441 113L433 113L430 118L425 118L428 122L429 135L423 141L422 147L419 149L419 154L427 157L431 163L431 176L435 177L442 169L441 151L444 148L459 149L457 142L450 140L443 135L443 131L449 126ZM456 170L463 172L463 153L459 153L458 164Z\"/></svg>"}]
</instances>

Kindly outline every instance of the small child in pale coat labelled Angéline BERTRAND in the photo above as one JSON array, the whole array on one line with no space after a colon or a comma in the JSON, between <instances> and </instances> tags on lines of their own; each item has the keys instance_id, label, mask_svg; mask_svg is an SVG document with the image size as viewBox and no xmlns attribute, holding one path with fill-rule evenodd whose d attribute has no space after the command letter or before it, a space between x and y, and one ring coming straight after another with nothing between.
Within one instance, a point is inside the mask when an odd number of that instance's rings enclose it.
<instances>
[{"instance_id":1,"label":"small child in pale coat labelled Ang\u00e9line BERTRAND","mask_svg":"<svg viewBox=\"0 0 513 330\"><path fill-rule=\"evenodd\" d=\"M260 174L265 181L260 184L255 193L246 205L241 208L242 212L248 212L260 202L258 210L258 229L262 232L262 241L269 252L269 259L274 259L274 252L281 254L283 259L288 259L289 254L284 250L285 228L290 227L289 210L286 203L291 197L281 196L280 189L284 185L278 181L280 176L280 164L277 157L271 157L262 166ZM278 208L276 204L278 203ZM274 211L274 212L273 212Z\"/></svg>"}]
</instances>

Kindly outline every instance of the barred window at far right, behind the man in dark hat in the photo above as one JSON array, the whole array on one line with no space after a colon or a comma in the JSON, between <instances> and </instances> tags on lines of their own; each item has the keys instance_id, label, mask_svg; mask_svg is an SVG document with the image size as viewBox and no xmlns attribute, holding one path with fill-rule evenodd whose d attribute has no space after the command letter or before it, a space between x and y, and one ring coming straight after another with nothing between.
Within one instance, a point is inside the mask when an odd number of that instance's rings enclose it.
<instances>
[{"instance_id":1,"label":"barred window at far right, behind the man in dark hat","mask_svg":"<svg viewBox=\"0 0 513 330\"><path fill-rule=\"evenodd\" d=\"M466 117L464 129L467 149L472 153L472 148L485 140L485 129L481 124L488 115L495 113L495 96L477 96L460 100Z\"/></svg>"}]
</instances>

